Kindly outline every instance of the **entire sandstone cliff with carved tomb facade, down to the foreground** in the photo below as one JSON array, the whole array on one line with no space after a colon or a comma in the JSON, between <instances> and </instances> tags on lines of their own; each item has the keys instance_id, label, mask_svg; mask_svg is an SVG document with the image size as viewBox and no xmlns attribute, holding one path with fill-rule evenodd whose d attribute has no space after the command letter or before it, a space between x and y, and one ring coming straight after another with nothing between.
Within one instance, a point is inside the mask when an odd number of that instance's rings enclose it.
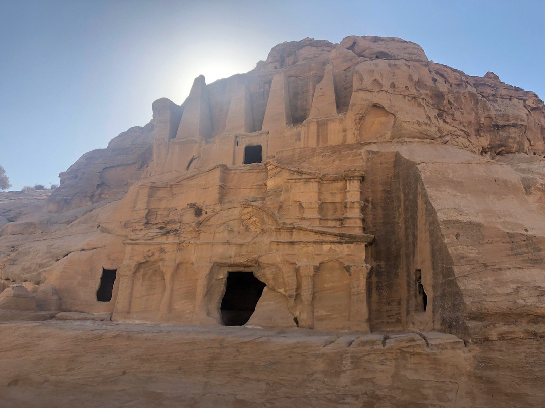
<instances>
[{"instance_id":1,"label":"entire sandstone cliff with carved tomb facade, down to the foreground","mask_svg":"<svg viewBox=\"0 0 545 408\"><path fill-rule=\"evenodd\" d=\"M152 107L46 206L0 195L0 290L35 302L0 319L57 320L3 326L4 401L543 406L535 93L347 37Z\"/></svg>"}]
</instances>

